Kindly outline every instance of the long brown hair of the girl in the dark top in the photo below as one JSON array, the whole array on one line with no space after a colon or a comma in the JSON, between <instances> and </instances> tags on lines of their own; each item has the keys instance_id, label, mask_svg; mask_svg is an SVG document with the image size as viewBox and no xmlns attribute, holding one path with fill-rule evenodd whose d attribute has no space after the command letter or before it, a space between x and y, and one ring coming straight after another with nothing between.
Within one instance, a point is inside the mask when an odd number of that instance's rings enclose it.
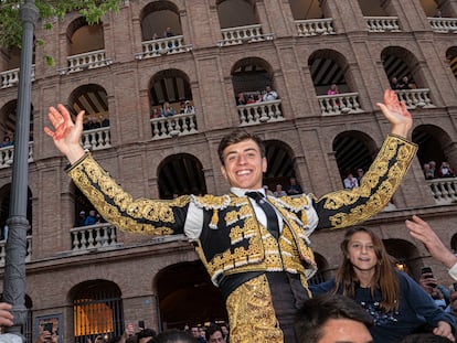
<instances>
[{"instance_id":1,"label":"long brown hair of the girl in the dark top","mask_svg":"<svg viewBox=\"0 0 457 343\"><path fill-rule=\"evenodd\" d=\"M371 292L375 289L380 289L382 300L380 301L381 308L386 312L398 309L400 299L400 287L396 271L389 258L389 254L385 250L384 244L381 238L378 237L372 231L364 227L351 227L346 232L344 239L341 242L342 264L338 268L337 277L334 278L334 289L337 292L342 289L342 294L354 299L355 297L355 285L359 280L355 276L354 268L349 260L349 240L357 233L365 233L370 236L374 251L376 254L378 264L371 282Z\"/></svg>"}]
</instances>

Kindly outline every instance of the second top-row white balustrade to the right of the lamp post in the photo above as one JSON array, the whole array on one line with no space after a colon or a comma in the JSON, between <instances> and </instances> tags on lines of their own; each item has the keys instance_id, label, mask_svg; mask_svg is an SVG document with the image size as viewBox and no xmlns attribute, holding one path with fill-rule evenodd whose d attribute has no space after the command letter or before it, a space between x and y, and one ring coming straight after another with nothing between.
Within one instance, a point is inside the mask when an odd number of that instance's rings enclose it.
<instances>
[{"instance_id":1,"label":"second top-row white balustrade to the right of the lamp post","mask_svg":"<svg viewBox=\"0 0 457 343\"><path fill-rule=\"evenodd\" d=\"M142 52L135 54L137 60L185 53L192 50L191 44L184 43L183 35L173 35L160 40L145 41L141 45Z\"/></svg>"}]
</instances>

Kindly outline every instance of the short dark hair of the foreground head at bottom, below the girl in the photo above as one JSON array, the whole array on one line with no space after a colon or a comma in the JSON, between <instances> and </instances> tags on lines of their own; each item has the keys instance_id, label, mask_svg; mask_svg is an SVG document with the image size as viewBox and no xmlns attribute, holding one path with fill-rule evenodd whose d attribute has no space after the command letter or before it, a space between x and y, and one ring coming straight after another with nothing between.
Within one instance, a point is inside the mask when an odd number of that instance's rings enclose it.
<instances>
[{"instance_id":1,"label":"short dark hair of the foreground head at bottom, below the girl","mask_svg":"<svg viewBox=\"0 0 457 343\"><path fill-rule=\"evenodd\" d=\"M322 294L307 300L297 312L294 323L297 342L316 343L330 319L349 319L373 325L373 319L352 299L340 294Z\"/></svg>"}]
</instances>

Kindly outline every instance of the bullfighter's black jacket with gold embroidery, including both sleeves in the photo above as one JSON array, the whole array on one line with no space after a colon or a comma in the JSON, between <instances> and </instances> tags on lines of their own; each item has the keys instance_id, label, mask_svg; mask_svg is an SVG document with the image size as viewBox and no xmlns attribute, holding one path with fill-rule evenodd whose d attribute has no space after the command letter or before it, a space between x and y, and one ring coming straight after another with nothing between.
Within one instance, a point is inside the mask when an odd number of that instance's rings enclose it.
<instances>
[{"instance_id":1,"label":"bullfighter's black jacket with gold embroidery, including both sleeves","mask_svg":"<svg viewBox=\"0 0 457 343\"><path fill-rule=\"evenodd\" d=\"M258 223L246 196L134 200L89 153L74 163L68 173L100 215L123 231L183 234L189 228L185 226L191 225L187 223L190 205L192 211L202 211L196 251L215 285L225 275L287 270L299 274L306 287L306 279L316 269L308 242L311 232L354 225L382 211L416 150L415 144L391 135L358 189L329 193L320 199L312 195L269 197L285 224L278 240Z\"/></svg>"}]
</instances>

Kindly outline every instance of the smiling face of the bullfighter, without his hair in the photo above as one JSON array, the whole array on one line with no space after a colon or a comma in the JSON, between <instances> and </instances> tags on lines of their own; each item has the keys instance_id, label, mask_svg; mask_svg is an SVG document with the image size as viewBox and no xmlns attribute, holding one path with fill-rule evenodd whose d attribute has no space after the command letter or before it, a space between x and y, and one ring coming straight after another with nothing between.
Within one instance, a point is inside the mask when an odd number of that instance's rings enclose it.
<instances>
[{"instance_id":1,"label":"smiling face of the bullfighter, without his hair","mask_svg":"<svg viewBox=\"0 0 457 343\"><path fill-rule=\"evenodd\" d=\"M223 150L221 172L231 186L258 190L266 169L266 158L262 157L261 148L252 139L227 146Z\"/></svg>"}]
</instances>

